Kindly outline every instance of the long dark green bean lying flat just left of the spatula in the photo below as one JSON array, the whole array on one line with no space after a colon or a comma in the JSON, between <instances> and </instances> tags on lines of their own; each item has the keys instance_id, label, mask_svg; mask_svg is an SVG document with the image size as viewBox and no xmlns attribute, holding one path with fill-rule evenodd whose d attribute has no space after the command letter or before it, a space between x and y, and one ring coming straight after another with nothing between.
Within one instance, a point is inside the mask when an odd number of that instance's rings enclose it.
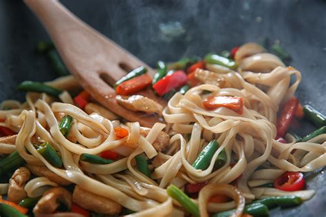
<instances>
[{"instance_id":1,"label":"long dark green bean lying flat just left of the spatula","mask_svg":"<svg viewBox=\"0 0 326 217\"><path fill-rule=\"evenodd\" d=\"M53 95L58 97L63 91L60 89L56 89L54 87L50 87L47 84L43 84L41 82L32 82L26 80L18 85L17 89L19 91L32 91L32 92L39 92L39 93L47 93L49 95Z\"/></svg>"}]
</instances>

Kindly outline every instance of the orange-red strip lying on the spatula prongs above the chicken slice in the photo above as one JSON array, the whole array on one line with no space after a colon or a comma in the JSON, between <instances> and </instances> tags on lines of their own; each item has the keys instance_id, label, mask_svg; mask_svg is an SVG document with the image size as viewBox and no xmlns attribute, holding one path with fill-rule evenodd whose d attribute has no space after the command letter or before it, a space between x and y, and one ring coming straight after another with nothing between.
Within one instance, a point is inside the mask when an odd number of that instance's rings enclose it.
<instances>
[{"instance_id":1,"label":"orange-red strip lying on the spatula prongs above the chicken slice","mask_svg":"<svg viewBox=\"0 0 326 217\"><path fill-rule=\"evenodd\" d=\"M131 80L119 84L116 87L116 93L119 95L131 95L149 87L151 83L152 79L147 74L142 74L141 76L131 78Z\"/></svg>"}]
</instances>

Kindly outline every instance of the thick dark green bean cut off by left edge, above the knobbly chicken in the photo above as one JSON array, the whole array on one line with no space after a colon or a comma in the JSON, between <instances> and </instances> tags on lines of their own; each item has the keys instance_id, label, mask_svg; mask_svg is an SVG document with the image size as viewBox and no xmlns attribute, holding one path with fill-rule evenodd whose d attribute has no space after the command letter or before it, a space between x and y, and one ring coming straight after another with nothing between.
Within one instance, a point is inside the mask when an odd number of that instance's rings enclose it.
<instances>
[{"instance_id":1,"label":"thick dark green bean cut off by left edge, above the knobbly chicken","mask_svg":"<svg viewBox=\"0 0 326 217\"><path fill-rule=\"evenodd\" d=\"M24 159L16 151L0 160L0 176L13 172L25 163Z\"/></svg>"}]
</instances>

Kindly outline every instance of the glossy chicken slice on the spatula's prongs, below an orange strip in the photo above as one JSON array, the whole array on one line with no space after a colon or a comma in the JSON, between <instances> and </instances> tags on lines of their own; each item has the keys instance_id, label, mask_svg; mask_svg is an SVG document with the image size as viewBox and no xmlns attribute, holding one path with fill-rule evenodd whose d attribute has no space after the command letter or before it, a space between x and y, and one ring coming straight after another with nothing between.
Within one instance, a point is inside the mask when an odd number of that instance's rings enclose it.
<instances>
[{"instance_id":1,"label":"glossy chicken slice on the spatula's prongs, below an orange strip","mask_svg":"<svg viewBox=\"0 0 326 217\"><path fill-rule=\"evenodd\" d=\"M117 95L116 100L119 104L131 111L144 111L145 113L157 113L162 116L163 107L142 95Z\"/></svg>"}]
</instances>

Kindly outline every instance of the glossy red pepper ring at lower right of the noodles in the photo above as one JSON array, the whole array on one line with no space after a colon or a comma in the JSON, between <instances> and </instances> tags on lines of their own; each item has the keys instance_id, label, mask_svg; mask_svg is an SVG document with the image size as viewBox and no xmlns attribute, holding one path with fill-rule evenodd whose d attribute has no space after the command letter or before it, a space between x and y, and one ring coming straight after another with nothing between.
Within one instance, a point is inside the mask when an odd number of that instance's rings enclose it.
<instances>
[{"instance_id":1,"label":"glossy red pepper ring at lower right of the noodles","mask_svg":"<svg viewBox=\"0 0 326 217\"><path fill-rule=\"evenodd\" d=\"M285 172L274 182L274 187L286 192L303 190L305 179L302 172Z\"/></svg>"}]
</instances>

